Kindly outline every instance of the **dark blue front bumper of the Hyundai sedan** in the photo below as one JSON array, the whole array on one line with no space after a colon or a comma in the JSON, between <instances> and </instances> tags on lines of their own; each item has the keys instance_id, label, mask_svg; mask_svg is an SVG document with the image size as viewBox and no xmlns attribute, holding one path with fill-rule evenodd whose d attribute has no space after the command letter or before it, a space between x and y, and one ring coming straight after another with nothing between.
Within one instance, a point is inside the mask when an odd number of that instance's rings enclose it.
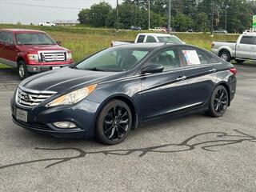
<instances>
[{"instance_id":1,"label":"dark blue front bumper of the Hyundai sedan","mask_svg":"<svg viewBox=\"0 0 256 192\"><path fill-rule=\"evenodd\" d=\"M11 101L12 119L15 124L26 130L37 133L50 134L57 138L91 138L94 136L94 122L99 104L84 100L76 106L56 106L47 108L36 106L27 108L19 106L13 99ZM17 109L27 111L27 122L16 118ZM60 129L54 122L73 122L74 129Z\"/></svg>"}]
</instances>

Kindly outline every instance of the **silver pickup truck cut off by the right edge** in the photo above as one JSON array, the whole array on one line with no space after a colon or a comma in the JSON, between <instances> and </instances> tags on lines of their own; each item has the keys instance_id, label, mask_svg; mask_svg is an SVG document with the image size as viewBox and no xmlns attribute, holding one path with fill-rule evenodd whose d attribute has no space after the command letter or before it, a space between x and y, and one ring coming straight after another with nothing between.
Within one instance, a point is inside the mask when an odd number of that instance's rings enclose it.
<instances>
[{"instance_id":1,"label":"silver pickup truck cut off by the right edge","mask_svg":"<svg viewBox=\"0 0 256 192\"><path fill-rule=\"evenodd\" d=\"M245 32L237 42L212 42L212 52L226 62L234 59L238 63L256 60L256 33Z\"/></svg>"}]
</instances>

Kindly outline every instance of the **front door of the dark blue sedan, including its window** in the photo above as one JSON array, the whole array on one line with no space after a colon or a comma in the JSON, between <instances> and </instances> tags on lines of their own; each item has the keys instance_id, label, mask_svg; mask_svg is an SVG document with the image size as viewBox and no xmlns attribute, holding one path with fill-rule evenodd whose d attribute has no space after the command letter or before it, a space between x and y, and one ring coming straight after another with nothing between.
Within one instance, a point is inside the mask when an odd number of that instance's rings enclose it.
<instances>
[{"instance_id":1,"label":"front door of the dark blue sedan, including its window","mask_svg":"<svg viewBox=\"0 0 256 192\"><path fill-rule=\"evenodd\" d=\"M186 78L178 48L159 51L146 65L152 63L161 64L164 71L142 78L142 120L186 108Z\"/></svg>"}]
</instances>

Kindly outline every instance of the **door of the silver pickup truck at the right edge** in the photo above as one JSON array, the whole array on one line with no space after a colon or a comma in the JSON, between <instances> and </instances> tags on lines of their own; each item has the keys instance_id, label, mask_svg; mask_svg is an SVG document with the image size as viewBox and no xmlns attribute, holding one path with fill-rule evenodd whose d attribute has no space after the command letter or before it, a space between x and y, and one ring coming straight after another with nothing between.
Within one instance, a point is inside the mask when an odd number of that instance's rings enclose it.
<instances>
[{"instance_id":1,"label":"door of the silver pickup truck at the right edge","mask_svg":"<svg viewBox=\"0 0 256 192\"><path fill-rule=\"evenodd\" d=\"M236 47L237 58L253 59L254 36L244 35Z\"/></svg>"}]
</instances>

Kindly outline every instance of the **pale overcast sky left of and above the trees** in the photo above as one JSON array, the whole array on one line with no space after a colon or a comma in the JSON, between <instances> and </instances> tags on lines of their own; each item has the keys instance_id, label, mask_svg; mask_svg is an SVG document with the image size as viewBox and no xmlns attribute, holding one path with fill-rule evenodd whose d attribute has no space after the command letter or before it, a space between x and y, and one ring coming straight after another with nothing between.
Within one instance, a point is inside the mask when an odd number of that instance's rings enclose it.
<instances>
[{"instance_id":1,"label":"pale overcast sky left of and above the trees","mask_svg":"<svg viewBox=\"0 0 256 192\"><path fill-rule=\"evenodd\" d=\"M79 10L94 3L116 0L0 0L0 23L38 24L55 20L77 20ZM122 0L119 0L122 2Z\"/></svg>"}]
</instances>

